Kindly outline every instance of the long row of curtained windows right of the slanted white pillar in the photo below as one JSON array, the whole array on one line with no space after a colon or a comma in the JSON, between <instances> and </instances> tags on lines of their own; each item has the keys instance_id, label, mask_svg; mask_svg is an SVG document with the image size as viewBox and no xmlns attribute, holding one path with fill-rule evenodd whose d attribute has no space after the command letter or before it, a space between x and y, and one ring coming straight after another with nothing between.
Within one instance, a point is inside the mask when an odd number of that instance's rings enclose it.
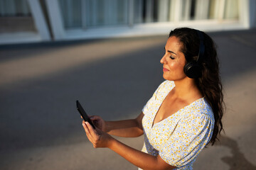
<instances>
[{"instance_id":1,"label":"long row of curtained windows right of the slanted white pillar","mask_svg":"<svg viewBox=\"0 0 256 170\"><path fill-rule=\"evenodd\" d=\"M238 19L238 0L59 0L65 28Z\"/></svg>"}]
</instances>

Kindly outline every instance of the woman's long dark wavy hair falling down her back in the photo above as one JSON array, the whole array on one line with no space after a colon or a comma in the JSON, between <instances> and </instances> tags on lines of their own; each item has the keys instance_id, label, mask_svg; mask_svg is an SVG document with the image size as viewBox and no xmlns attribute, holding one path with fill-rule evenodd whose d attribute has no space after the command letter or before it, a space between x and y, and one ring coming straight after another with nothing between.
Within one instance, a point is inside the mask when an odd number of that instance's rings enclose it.
<instances>
[{"instance_id":1,"label":"woman's long dark wavy hair falling down her back","mask_svg":"<svg viewBox=\"0 0 256 170\"><path fill-rule=\"evenodd\" d=\"M203 32L202 32L203 33ZM197 30L192 28L176 28L172 30L169 37L175 36L182 42L181 52L186 57L186 62L195 61L198 57L200 38ZM202 76L195 79L198 89L205 96L214 113L214 129L210 139L212 145L218 140L218 134L223 130L223 117L225 103L223 101L223 86L220 80L219 60L215 42L209 35L203 33L205 52L200 60Z\"/></svg>"}]
</instances>

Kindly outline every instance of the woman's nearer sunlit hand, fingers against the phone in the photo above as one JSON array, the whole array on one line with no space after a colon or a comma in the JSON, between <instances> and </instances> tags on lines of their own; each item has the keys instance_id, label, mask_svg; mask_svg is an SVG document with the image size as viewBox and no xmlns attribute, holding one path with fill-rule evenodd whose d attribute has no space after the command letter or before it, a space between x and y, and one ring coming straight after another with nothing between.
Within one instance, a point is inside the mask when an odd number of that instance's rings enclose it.
<instances>
[{"instance_id":1,"label":"woman's nearer sunlit hand, fingers against the phone","mask_svg":"<svg viewBox=\"0 0 256 170\"><path fill-rule=\"evenodd\" d=\"M99 128L93 129L90 123L82 121L82 126L85 129L88 140L92 142L93 147L110 147L113 137L103 132Z\"/></svg>"}]
</instances>

